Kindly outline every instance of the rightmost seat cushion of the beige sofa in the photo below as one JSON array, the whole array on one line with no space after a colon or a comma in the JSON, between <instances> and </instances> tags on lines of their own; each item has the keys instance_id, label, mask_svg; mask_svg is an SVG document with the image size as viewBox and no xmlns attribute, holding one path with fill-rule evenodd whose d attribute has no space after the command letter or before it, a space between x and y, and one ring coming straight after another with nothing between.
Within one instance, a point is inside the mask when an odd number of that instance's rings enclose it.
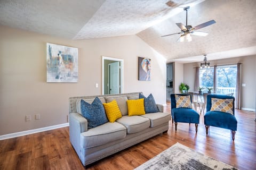
<instances>
[{"instance_id":1,"label":"rightmost seat cushion of the beige sofa","mask_svg":"<svg viewBox=\"0 0 256 170\"><path fill-rule=\"evenodd\" d=\"M156 126L162 125L164 123L167 123L171 120L171 114L170 113L148 113L145 115L142 115L142 117L149 118L150 120L150 128L154 128Z\"/></svg>"}]
</instances>

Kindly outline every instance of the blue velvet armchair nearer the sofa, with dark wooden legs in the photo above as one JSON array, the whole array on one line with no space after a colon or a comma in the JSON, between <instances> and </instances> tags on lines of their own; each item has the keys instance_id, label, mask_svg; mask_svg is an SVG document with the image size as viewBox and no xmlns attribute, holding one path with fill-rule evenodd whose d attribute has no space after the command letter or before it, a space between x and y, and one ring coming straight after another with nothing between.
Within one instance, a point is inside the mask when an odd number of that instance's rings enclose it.
<instances>
[{"instance_id":1,"label":"blue velvet armchair nearer the sofa, with dark wooden legs","mask_svg":"<svg viewBox=\"0 0 256 170\"><path fill-rule=\"evenodd\" d=\"M177 94L179 96L190 96L190 101L192 103L191 95L188 94ZM192 108L176 108L176 99L175 94L171 94L171 114L172 114L172 123L175 123L175 131L177 131L178 122L182 123L195 123L196 132L197 126L199 124L199 114L194 111Z\"/></svg>"}]
</instances>

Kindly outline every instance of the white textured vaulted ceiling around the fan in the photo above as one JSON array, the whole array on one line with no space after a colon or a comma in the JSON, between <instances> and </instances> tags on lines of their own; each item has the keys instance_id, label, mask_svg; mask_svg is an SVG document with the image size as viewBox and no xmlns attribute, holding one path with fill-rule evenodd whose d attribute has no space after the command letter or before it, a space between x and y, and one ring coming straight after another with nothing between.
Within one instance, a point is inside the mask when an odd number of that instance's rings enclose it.
<instances>
[{"instance_id":1,"label":"white textured vaulted ceiling around the fan","mask_svg":"<svg viewBox=\"0 0 256 170\"><path fill-rule=\"evenodd\" d=\"M0 0L0 24L69 39L137 35L169 61L183 63L219 57L254 55L256 47L255 0ZM189 4L190 3L190 4ZM190 43L177 43L175 23L193 26L214 19ZM181 6L181 7L179 7Z\"/></svg>"}]
</instances>

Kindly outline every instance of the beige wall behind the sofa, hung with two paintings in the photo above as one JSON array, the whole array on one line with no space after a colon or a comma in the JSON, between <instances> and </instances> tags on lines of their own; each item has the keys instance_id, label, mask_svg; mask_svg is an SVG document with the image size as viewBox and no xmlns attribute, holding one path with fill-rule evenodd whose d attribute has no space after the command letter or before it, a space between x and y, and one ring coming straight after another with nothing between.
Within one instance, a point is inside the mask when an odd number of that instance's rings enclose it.
<instances>
[{"instance_id":1,"label":"beige wall behind the sofa, hung with two paintings","mask_svg":"<svg viewBox=\"0 0 256 170\"><path fill-rule=\"evenodd\" d=\"M46 83L46 43L78 48L78 83ZM137 36L68 40L0 25L0 135L66 123L69 97L102 93L102 56L124 60L124 92L165 104L166 60ZM151 81L138 81L138 56L151 58Z\"/></svg>"}]
</instances>

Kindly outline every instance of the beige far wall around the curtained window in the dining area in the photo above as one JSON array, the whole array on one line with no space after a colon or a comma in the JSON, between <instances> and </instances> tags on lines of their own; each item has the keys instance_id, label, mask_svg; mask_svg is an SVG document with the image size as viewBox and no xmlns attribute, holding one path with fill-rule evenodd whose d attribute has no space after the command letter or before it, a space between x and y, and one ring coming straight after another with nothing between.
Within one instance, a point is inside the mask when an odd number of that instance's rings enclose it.
<instances>
[{"instance_id":1,"label":"beige far wall around the curtained window in the dining area","mask_svg":"<svg viewBox=\"0 0 256 170\"><path fill-rule=\"evenodd\" d=\"M242 64L242 83L246 87L242 87L242 108L255 108L256 98L256 55L243 56L235 58L227 58L222 60L210 61L211 65L226 65L226 64ZM187 83L191 90L194 90L195 68L200 63L184 64L184 82Z\"/></svg>"}]
</instances>

